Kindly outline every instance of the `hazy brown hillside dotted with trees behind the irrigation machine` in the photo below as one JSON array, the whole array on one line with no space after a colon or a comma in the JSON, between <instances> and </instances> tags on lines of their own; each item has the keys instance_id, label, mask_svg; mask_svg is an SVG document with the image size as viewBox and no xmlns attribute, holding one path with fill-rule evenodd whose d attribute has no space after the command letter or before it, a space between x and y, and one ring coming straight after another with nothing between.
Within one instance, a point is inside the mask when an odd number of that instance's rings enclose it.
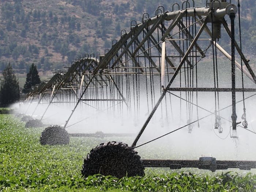
<instances>
[{"instance_id":1,"label":"hazy brown hillside dotted with trees behind the irrigation machine","mask_svg":"<svg viewBox=\"0 0 256 192\"><path fill-rule=\"evenodd\" d=\"M243 45L250 54L256 41L255 0L240 1ZM131 20L139 23L144 12L153 16L159 5L171 10L172 4L167 0L2 0L0 71L9 62L19 73L26 73L31 63L54 71L80 54L104 54L112 40L120 38L121 29L129 30ZM205 4L195 0L195 7Z\"/></svg>"}]
</instances>

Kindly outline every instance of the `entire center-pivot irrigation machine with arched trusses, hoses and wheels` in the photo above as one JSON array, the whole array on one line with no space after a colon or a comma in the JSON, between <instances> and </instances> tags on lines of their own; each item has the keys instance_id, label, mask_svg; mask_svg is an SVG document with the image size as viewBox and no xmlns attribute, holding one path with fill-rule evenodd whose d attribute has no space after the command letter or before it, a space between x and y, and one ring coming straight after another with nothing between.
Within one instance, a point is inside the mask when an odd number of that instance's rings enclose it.
<instances>
[{"instance_id":1,"label":"entire center-pivot irrigation machine with arched trusses, hoses and wheels","mask_svg":"<svg viewBox=\"0 0 256 192\"><path fill-rule=\"evenodd\" d=\"M212 171L229 167L256 168L256 161L217 161L211 156L202 156L199 160L142 160L134 150L180 129L187 128L188 133L192 133L192 126L199 127L199 122L209 116L214 119L213 131L217 134L223 132L223 121L230 122L231 137L236 137L237 127L255 134L248 129L245 101L256 95L252 94L256 91L253 88L256 76L242 53L239 0L238 6L231 4L231 0L207 0L206 7L195 7L193 0L187 0L181 5L174 3L171 8L172 11L165 11L159 6L152 18L144 13L141 23L132 20L130 31L122 30L120 39L114 39L103 56L80 55L67 71L55 72L48 82L27 95L25 103L29 103L29 107L36 104L32 116L38 106L47 105L40 114L41 120L51 105L72 108L63 127L54 125L42 132L42 144L67 144L69 136L109 136L102 132L68 133L66 129L78 123L70 125L75 112L85 113L79 123L88 121L90 115L100 117L97 121L101 121L102 129L107 122L111 126L113 119L104 119L99 113L112 114L118 122L126 120L129 127L138 124L142 113L147 114L131 146L108 142L92 149L84 159L84 177L97 173L116 177L143 176L144 167L198 167ZM237 12L239 31L235 31L234 24ZM240 44L235 34L240 37ZM206 94L213 98L206 99L210 108L200 106ZM241 99L238 100L238 96ZM224 107L221 107L222 100ZM236 114L236 106L241 103L242 123L237 122ZM221 113L228 108L231 118ZM158 117L161 121L157 129L166 122L176 125L174 119L178 117L186 120L179 128L137 145L148 124ZM131 125L130 121L135 123Z\"/></svg>"}]
</instances>

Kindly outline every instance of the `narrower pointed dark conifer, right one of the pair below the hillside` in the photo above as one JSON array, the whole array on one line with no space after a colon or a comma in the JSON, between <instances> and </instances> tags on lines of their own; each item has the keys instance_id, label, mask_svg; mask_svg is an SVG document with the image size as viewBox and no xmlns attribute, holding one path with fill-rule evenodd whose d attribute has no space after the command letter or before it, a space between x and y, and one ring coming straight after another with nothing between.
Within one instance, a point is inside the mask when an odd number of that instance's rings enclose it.
<instances>
[{"instance_id":1,"label":"narrower pointed dark conifer, right one of the pair below the hillside","mask_svg":"<svg viewBox=\"0 0 256 192\"><path fill-rule=\"evenodd\" d=\"M24 85L23 93L29 93L32 90L32 86L41 83L41 80L38 75L37 66L32 63L27 73L26 82Z\"/></svg>"}]
</instances>

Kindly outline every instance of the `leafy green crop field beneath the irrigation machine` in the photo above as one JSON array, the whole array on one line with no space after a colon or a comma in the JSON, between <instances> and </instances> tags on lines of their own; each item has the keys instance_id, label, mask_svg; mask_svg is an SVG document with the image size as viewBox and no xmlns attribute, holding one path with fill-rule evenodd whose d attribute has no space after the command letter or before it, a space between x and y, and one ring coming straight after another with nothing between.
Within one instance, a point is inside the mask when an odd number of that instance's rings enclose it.
<instances>
[{"instance_id":1,"label":"leafy green crop field beneath the irrigation machine","mask_svg":"<svg viewBox=\"0 0 256 192\"><path fill-rule=\"evenodd\" d=\"M68 145L41 146L43 130L0 114L0 191L256 191L256 175L250 172L146 168L144 177L82 178L84 157L102 139L71 138Z\"/></svg>"}]
</instances>

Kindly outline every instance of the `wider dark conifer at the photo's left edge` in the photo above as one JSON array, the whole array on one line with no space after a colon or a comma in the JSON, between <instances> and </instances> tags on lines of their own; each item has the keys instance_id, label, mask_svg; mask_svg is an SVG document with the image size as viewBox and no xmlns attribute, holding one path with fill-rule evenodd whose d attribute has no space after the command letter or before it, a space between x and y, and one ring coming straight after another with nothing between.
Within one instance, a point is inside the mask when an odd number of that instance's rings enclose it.
<instances>
[{"instance_id":1,"label":"wider dark conifer at the photo's left edge","mask_svg":"<svg viewBox=\"0 0 256 192\"><path fill-rule=\"evenodd\" d=\"M0 86L0 103L1 106L8 106L19 99L19 82L9 63L3 70L3 79L1 80Z\"/></svg>"}]
</instances>

